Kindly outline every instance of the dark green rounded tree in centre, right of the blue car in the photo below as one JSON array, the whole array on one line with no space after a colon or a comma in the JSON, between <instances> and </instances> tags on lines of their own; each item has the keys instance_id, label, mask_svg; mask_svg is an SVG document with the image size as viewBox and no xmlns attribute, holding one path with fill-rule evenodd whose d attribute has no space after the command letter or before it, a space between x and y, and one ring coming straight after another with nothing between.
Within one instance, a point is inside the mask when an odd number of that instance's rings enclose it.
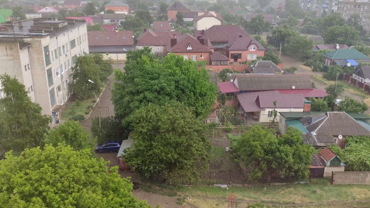
<instances>
[{"instance_id":1,"label":"dark green rounded tree in centre, right of the blue car","mask_svg":"<svg viewBox=\"0 0 370 208\"><path fill-rule=\"evenodd\" d=\"M177 184L199 180L199 171L208 170L211 142L206 125L184 104L148 104L130 120L135 142L125 150L125 161L135 172Z\"/></svg>"}]
</instances>

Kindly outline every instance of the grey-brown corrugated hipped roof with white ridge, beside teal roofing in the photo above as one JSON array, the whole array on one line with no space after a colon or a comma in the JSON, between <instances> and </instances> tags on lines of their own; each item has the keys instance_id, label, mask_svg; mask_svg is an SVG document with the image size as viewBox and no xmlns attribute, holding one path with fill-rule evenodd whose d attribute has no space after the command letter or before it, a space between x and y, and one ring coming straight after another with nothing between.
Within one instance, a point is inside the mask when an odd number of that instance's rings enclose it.
<instances>
[{"instance_id":1,"label":"grey-brown corrugated hipped roof with white ridge, beside teal roofing","mask_svg":"<svg viewBox=\"0 0 370 208\"><path fill-rule=\"evenodd\" d=\"M345 112L327 112L327 117L308 125L316 135L370 136L370 131Z\"/></svg>"}]
</instances>

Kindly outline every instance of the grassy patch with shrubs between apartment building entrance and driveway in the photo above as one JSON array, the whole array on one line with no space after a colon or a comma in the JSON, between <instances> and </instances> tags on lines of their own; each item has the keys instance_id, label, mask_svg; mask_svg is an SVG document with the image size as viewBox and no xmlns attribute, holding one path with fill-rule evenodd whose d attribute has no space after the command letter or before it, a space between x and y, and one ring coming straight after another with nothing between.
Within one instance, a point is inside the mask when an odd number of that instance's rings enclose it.
<instances>
[{"instance_id":1,"label":"grassy patch with shrubs between apartment building entrance and driveway","mask_svg":"<svg viewBox=\"0 0 370 208\"><path fill-rule=\"evenodd\" d=\"M63 115L67 116L67 118L78 121L84 120L90 114L90 111L92 110L92 107L94 107L95 103L95 98L89 98L86 100L75 100L68 106Z\"/></svg>"}]
</instances>

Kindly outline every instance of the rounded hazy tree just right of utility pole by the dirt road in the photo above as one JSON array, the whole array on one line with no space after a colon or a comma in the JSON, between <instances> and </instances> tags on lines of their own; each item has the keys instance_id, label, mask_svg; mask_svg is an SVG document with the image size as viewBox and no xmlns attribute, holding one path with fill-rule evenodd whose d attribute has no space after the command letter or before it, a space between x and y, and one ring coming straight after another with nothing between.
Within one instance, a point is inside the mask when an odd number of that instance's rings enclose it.
<instances>
[{"instance_id":1,"label":"rounded hazy tree just right of utility pole by the dirt road","mask_svg":"<svg viewBox=\"0 0 370 208\"><path fill-rule=\"evenodd\" d=\"M313 40L306 36L291 36L286 40L286 51L301 60L311 57Z\"/></svg>"}]
</instances>

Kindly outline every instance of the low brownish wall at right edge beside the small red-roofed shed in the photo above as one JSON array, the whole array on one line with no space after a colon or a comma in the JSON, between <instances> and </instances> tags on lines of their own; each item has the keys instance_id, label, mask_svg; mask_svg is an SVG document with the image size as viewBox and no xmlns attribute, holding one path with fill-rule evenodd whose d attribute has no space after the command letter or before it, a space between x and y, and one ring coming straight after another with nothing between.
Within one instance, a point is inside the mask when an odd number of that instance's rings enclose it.
<instances>
[{"instance_id":1,"label":"low brownish wall at right edge beside the small red-roofed shed","mask_svg":"<svg viewBox=\"0 0 370 208\"><path fill-rule=\"evenodd\" d=\"M334 172L333 184L364 184L370 185L370 171Z\"/></svg>"}]
</instances>

